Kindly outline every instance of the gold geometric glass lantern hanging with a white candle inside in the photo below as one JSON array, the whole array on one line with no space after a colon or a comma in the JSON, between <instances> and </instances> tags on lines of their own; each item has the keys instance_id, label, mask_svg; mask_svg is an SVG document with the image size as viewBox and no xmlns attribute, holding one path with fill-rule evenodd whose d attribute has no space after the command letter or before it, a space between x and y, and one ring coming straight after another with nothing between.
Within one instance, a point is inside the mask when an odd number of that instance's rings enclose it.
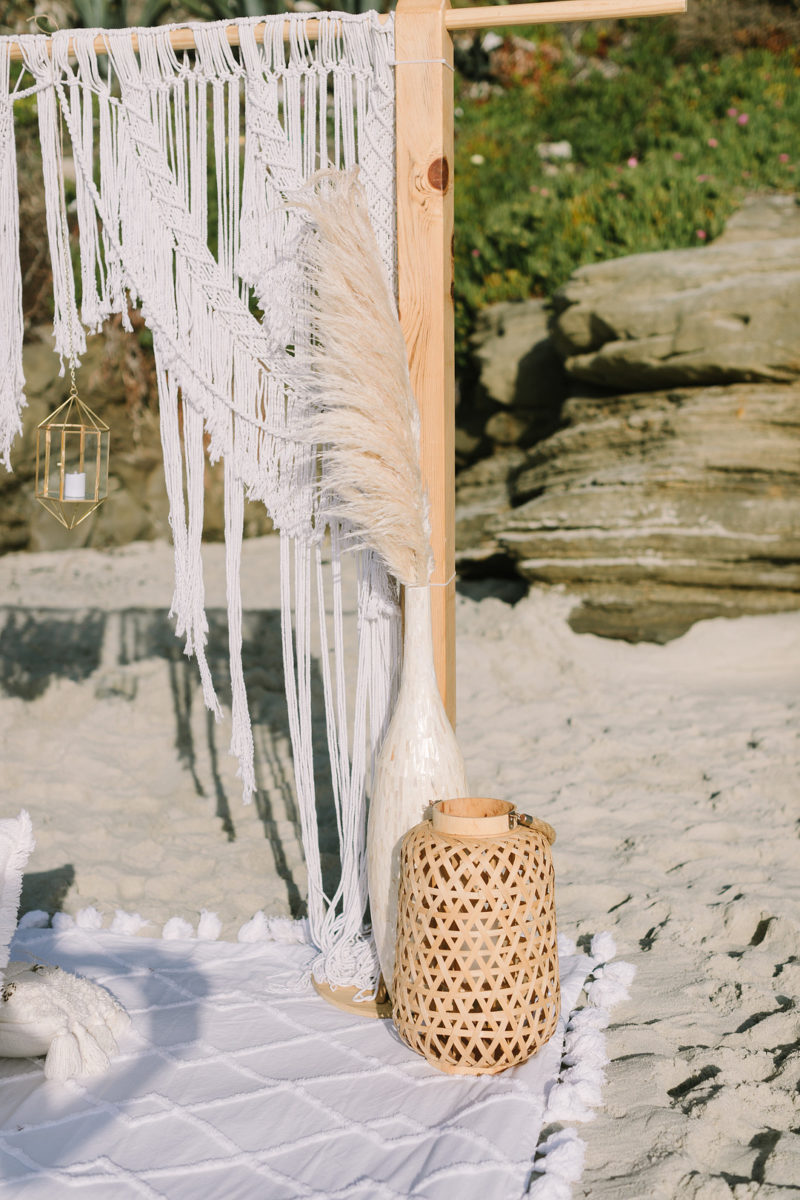
<instances>
[{"instance_id":1,"label":"gold geometric glass lantern hanging with a white candle inside","mask_svg":"<svg viewBox=\"0 0 800 1200\"><path fill-rule=\"evenodd\" d=\"M36 499L67 529L108 494L108 425L73 391L36 431Z\"/></svg>"}]
</instances>

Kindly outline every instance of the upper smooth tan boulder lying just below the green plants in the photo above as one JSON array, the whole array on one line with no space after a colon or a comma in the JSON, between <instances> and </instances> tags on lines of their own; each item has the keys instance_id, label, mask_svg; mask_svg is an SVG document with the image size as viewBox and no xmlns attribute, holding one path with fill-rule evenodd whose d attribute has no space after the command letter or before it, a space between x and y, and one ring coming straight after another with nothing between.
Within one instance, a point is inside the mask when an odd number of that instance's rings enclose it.
<instances>
[{"instance_id":1,"label":"upper smooth tan boulder lying just below the green plants","mask_svg":"<svg viewBox=\"0 0 800 1200\"><path fill-rule=\"evenodd\" d=\"M632 254L577 270L553 343L572 379L625 391L800 377L800 239Z\"/></svg>"}]
</instances>

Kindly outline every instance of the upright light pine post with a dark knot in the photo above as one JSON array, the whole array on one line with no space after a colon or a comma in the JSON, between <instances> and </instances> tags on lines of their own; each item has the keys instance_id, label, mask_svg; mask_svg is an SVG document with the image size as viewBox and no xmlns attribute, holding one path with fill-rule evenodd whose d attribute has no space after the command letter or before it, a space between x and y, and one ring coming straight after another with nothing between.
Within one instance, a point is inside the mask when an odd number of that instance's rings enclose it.
<instances>
[{"instance_id":1,"label":"upright light pine post with a dark knot","mask_svg":"<svg viewBox=\"0 0 800 1200\"><path fill-rule=\"evenodd\" d=\"M456 724L456 378L453 348L453 49L450 0L398 0L397 276L399 319L422 425L431 502L433 652Z\"/></svg>"}]
</instances>

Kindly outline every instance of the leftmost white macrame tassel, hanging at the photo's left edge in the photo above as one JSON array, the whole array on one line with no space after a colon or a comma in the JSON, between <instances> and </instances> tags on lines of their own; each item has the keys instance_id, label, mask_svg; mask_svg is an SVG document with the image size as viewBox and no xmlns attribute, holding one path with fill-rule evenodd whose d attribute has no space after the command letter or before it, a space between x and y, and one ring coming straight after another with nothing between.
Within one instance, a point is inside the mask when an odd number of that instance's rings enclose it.
<instances>
[{"instance_id":1,"label":"leftmost white macrame tassel, hanging at the photo's left edge","mask_svg":"<svg viewBox=\"0 0 800 1200\"><path fill-rule=\"evenodd\" d=\"M17 152L10 88L10 43L0 42L0 462L11 470L11 443L22 433L23 284L19 269Z\"/></svg>"}]
</instances>

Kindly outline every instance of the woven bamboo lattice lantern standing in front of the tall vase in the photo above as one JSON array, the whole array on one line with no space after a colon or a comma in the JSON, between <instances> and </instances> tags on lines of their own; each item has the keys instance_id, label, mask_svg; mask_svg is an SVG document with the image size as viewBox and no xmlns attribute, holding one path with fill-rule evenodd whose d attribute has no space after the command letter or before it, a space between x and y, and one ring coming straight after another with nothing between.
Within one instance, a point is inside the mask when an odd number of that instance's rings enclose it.
<instances>
[{"instance_id":1,"label":"woven bamboo lattice lantern standing in front of the tall vase","mask_svg":"<svg viewBox=\"0 0 800 1200\"><path fill-rule=\"evenodd\" d=\"M392 1018L447 1074L494 1075L555 1031L554 840L474 797L434 804L403 840Z\"/></svg>"}]
</instances>

